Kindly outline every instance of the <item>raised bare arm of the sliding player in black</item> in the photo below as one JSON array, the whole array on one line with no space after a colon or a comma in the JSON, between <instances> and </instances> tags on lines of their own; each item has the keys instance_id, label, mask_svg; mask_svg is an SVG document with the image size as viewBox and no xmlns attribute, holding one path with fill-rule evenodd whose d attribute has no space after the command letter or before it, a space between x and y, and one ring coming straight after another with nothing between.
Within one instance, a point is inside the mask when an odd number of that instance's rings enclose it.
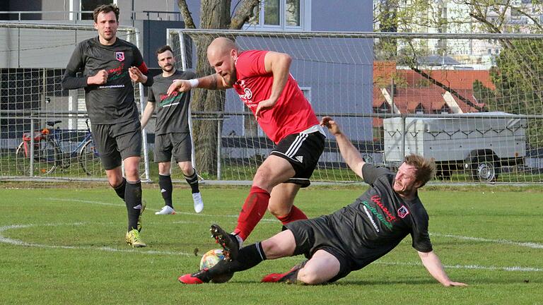
<instances>
[{"instance_id":1,"label":"raised bare arm of the sliding player in black","mask_svg":"<svg viewBox=\"0 0 543 305\"><path fill-rule=\"evenodd\" d=\"M336 138L341 157L347 162L347 165L351 167L355 174L364 179L362 176L362 167L366 162L364 162L360 152L354 147L349 138L341 132L341 128L339 128L336 121L329 116L325 116L321 119L320 124L327 127L332 136Z\"/></svg>"}]
</instances>

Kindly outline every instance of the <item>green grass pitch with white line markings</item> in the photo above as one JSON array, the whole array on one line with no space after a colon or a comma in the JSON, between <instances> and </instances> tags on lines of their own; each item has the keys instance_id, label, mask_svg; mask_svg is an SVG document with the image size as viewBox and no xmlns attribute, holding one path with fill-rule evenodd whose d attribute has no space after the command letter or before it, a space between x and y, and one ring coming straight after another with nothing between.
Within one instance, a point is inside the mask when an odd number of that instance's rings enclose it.
<instances>
[{"instance_id":1,"label":"green grass pitch with white line markings","mask_svg":"<svg viewBox=\"0 0 543 305\"><path fill-rule=\"evenodd\" d=\"M311 186L296 205L316 217L365 189ZM302 257L265 261L226 284L181 285L177 277L217 247L209 225L233 229L248 191L204 185L205 208L195 214L189 189L175 184L177 215L154 215L160 192L144 186L148 247L132 249L124 243L124 203L103 184L0 184L0 304L543 304L543 193L535 187L420 191L434 250L451 279L469 287L433 280L409 236L332 285L259 282ZM247 242L280 229L267 214Z\"/></svg>"}]
</instances>

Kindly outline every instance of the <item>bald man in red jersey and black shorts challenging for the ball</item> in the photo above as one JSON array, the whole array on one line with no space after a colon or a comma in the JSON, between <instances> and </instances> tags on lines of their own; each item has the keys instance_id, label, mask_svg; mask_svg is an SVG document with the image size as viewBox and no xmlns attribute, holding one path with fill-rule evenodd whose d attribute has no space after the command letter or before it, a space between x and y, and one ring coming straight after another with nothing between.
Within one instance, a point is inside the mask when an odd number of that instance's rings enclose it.
<instances>
[{"instance_id":1,"label":"bald man in red jersey and black shorts challenging for the ball","mask_svg":"<svg viewBox=\"0 0 543 305\"><path fill-rule=\"evenodd\" d=\"M283 224L307 216L294 206L300 187L309 178L325 146L325 132L298 83L289 73L288 54L250 50L241 51L228 38L216 38L207 49L207 59L216 73L192 80L175 80L168 94L192 88L222 90L234 88L255 114L255 119L276 147L260 165L252 180L233 234L218 226L211 233L230 259L266 209Z\"/></svg>"}]
</instances>

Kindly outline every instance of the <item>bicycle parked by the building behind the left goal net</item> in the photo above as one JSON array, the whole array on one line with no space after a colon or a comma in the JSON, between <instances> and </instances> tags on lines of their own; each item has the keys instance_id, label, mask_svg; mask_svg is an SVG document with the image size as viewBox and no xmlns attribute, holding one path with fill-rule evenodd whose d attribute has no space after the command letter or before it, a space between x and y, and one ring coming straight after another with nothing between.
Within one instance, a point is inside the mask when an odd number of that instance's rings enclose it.
<instances>
[{"instance_id":1,"label":"bicycle parked by the building behind the left goal net","mask_svg":"<svg viewBox=\"0 0 543 305\"><path fill-rule=\"evenodd\" d=\"M93 133L88 126L88 119L85 124L87 130L83 140L78 143L74 150L64 152L61 145L62 130L54 126L62 121L47 121L47 126L34 134L34 149L31 152L30 133L23 133L23 142L16 150L16 162L18 170L23 174L33 176L34 172L39 174L51 174L57 167L66 169L70 167L71 160L77 157L77 161L88 176L103 174L104 169L100 162L100 155L94 144ZM33 172L30 173L30 156L33 154Z\"/></svg>"}]
</instances>

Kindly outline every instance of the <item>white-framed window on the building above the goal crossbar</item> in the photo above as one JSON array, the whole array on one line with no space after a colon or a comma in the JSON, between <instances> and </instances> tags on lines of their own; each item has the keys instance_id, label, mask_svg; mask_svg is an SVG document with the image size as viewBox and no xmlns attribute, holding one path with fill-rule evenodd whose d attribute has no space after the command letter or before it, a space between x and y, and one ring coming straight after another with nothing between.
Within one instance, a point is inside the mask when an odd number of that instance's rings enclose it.
<instances>
[{"instance_id":1,"label":"white-framed window on the building above the goal crossbar","mask_svg":"<svg viewBox=\"0 0 543 305\"><path fill-rule=\"evenodd\" d=\"M310 0L262 0L245 30L311 30Z\"/></svg>"}]
</instances>

